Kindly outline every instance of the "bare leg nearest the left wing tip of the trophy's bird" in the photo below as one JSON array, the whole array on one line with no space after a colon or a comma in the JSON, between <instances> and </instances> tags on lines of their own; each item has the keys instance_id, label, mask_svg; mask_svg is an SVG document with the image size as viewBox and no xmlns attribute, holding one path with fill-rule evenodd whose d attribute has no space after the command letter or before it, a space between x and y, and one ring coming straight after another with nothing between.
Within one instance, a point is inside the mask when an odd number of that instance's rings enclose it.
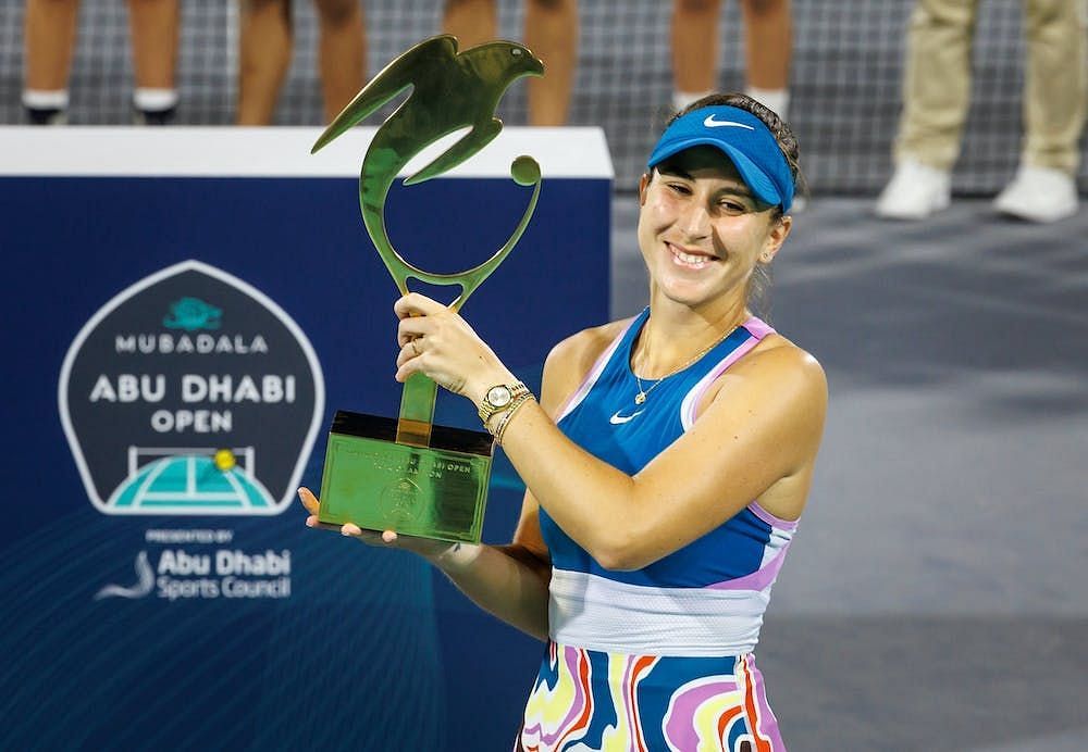
<instances>
[{"instance_id":1,"label":"bare leg nearest the left wing tip of the trophy's bird","mask_svg":"<svg viewBox=\"0 0 1088 752\"><path fill-rule=\"evenodd\" d=\"M367 77L367 32L359 0L314 0L321 41L319 66L325 122L359 93Z\"/></svg>"}]
</instances>

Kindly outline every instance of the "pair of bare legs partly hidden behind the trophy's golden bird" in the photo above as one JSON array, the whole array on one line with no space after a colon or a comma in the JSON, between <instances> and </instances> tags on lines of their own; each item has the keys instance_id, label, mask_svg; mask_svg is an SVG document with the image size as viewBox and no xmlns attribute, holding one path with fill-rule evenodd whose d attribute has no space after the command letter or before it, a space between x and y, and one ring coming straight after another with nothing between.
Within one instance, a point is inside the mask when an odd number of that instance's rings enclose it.
<instances>
[{"instance_id":1,"label":"pair of bare legs partly hidden behind the trophy's golden bird","mask_svg":"<svg viewBox=\"0 0 1088 752\"><path fill-rule=\"evenodd\" d=\"M442 29L457 37L460 50L495 39L495 0L446 0ZM529 80L530 125L566 124L578 55L577 0L526 0L522 41L545 66L543 77Z\"/></svg>"}]
</instances>

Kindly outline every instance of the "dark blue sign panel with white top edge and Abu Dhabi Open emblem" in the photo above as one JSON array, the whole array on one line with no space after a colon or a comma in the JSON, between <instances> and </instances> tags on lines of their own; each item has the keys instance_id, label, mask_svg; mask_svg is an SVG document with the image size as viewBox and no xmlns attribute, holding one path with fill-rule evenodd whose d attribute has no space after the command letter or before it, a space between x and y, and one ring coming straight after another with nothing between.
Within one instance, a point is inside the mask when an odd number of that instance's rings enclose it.
<instances>
[{"instance_id":1,"label":"dark blue sign panel with white top edge and Abu Dhabi Open emblem","mask_svg":"<svg viewBox=\"0 0 1088 752\"><path fill-rule=\"evenodd\" d=\"M358 209L372 131L310 158L317 133L0 129L0 749L512 744L543 646L295 501L332 413L395 415L400 393L397 292ZM508 128L395 186L387 224L419 266L479 263L528 200L517 153L540 204L463 315L539 390L551 347L608 315L601 133ZM450 394L436 421L479 429ZM499 456L486 541L522 492Z\"/></svg>"}]
</instances>

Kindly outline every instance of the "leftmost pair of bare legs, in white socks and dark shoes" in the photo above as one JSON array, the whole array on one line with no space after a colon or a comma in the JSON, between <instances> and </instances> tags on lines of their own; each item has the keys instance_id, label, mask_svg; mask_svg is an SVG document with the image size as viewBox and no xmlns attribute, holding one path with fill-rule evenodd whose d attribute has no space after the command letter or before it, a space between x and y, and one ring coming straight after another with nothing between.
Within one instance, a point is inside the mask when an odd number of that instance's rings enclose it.
<instances>
[{"instance_id":1,"label":"leftmost pair of bare legs, in white socks and dark shoes","mask_svg":"<svg viewBox=\"0 0 1088 752\"><path fill-rule=\"evenodd\" d=\"M23 106L35 125L67 123L69 74L75 50L78 0L27 0ZM177 108L178 0L131 0L133 121L165 125Z\"/></svg>"}]
</instances>

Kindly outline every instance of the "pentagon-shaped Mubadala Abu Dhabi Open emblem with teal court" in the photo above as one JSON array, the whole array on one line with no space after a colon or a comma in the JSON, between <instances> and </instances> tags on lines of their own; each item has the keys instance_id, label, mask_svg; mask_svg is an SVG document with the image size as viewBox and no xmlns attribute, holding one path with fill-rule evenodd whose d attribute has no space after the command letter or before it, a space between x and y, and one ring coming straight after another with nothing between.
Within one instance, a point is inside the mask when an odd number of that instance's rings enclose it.
<instances>
[{"instance_id":1,"label":"pentagon-shaped Mubadala Abu Dhabi Open emblem with teal court","mask_svg":"<svg viewBox=\"0 0 1088 752\"><path fill-rule=\"evenodd\" d=\"M61 423L106 514L269 515L324 409L313 348L274 301L199 261L141 279L76 335Z\"/></svg>"}]
</instances>

